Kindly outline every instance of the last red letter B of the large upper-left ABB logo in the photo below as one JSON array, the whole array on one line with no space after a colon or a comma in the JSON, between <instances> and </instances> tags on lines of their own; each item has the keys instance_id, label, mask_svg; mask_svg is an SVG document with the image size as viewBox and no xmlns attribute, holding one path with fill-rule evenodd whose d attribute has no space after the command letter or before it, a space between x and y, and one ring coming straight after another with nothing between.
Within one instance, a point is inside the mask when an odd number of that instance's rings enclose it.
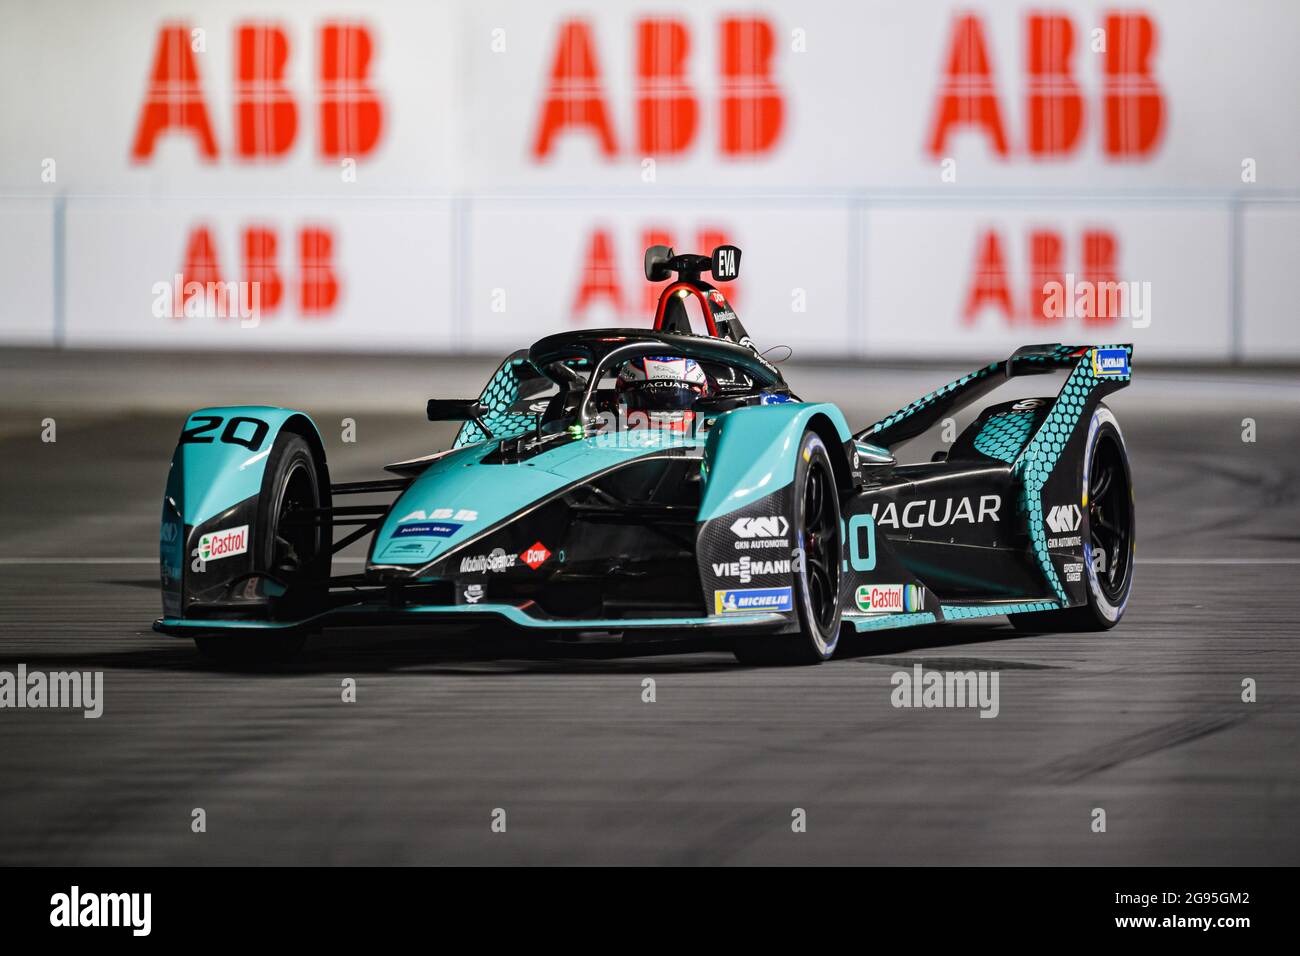
<instances>
[{"instance_id":1,"label":"last red letter B of the large upper-left ABB logo","mask_svg":"<svg viewBox=\"0 0 1300 956\"><path fill-rule=\"evenodd\" d=\"M364 156L380 142L384 109L367 82L374 40L359 23L321 27L321 156Z\"/></svg>"}]
</instances>

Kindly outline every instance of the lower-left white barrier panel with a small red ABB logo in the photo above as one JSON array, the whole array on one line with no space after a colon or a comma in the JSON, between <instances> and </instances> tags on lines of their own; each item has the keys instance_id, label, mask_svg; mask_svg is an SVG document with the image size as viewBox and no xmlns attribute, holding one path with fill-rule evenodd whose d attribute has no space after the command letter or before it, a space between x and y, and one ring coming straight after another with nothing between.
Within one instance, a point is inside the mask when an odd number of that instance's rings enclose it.
<instances>
[{"instance_id":1,"label":"lower-left white barrier panel with a small red ABB logo","mask_svg":"<svg viewBox=\"0 0 1300 956\"><path fill-rule=\"evenodd\" d=\"M446 349L448 204L433 200L70 202L65 341L159 349ZM188 264L188 265L187 265ZM187 280L257 281L185 308Z\"/></svg>"}]
</instances>

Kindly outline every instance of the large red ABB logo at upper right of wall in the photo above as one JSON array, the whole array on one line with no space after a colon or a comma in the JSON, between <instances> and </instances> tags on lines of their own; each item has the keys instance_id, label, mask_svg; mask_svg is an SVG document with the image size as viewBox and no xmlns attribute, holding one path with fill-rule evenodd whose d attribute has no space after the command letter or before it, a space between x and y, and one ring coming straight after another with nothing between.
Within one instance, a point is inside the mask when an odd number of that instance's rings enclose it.
<instances>
[{"instance_id":1,"label":"large red ABB logo at upper right of wall","mask_svg":"<svg viewBox=\"0 0 1300 956\"><path fill-rule=\"evenodd\" d=\"M1014 147L996 81L996 64L976 13L953 18L927 151L940 157L954 134L974 130L1000 157L1066 157L1083 148L1087 107L1076 78L1075 21L1061 13L1024 17L1026 129ZM1148 159L1165 126L1165 95L1153 74L1156 25L1145 13L1110 13L1088 36L1101 60L1097 100L1101 151L1110 160Z\"/></svg>"}]
</instances>

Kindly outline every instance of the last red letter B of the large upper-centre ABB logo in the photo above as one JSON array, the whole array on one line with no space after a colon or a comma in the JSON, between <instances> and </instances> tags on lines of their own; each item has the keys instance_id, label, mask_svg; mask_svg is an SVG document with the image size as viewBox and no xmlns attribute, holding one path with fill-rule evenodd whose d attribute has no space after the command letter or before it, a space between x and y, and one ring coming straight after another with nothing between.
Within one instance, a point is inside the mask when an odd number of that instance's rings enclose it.
<instances>
[{"instance_id":1,"label":"last red letter B of the large upper-centre ABB logo","mask_svg":"<svg viewBox=\"0 0 1300 956\"><path fill-rule=\"evenodd\" d=\"M781 133L784 100L772 82L772 25L727 18L722 23L722 150L724 156L768 152Z\"/></svg>"}]
</instances>

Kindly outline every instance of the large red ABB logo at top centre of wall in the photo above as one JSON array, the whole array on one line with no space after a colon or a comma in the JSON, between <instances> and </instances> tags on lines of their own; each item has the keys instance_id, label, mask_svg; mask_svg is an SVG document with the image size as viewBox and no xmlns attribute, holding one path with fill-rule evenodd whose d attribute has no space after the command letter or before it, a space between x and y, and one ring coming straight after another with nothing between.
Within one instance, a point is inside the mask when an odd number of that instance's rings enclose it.
<instances>
[{"instance_id":1,"label":"large red ABB logo at top centre of wall","mask_svg":"<svg viewBox=\"0 0 1300 956\"><path fill-rule=\"evenodd\" d=\"M693 85L692 33L685 21L647 17L634 25L632 104L634 133L616 133L602 57L592 23L559 25L546 91L537 114L532 157L545 163L563 137L582 135L601 155L679 156L699 139L701 99L716 96L718 153L754 157L772 152L785 125L786 99L774 77L776 30L764 17L723 17L718 22L716 83Z\"/></svg>"}]
</instances>

